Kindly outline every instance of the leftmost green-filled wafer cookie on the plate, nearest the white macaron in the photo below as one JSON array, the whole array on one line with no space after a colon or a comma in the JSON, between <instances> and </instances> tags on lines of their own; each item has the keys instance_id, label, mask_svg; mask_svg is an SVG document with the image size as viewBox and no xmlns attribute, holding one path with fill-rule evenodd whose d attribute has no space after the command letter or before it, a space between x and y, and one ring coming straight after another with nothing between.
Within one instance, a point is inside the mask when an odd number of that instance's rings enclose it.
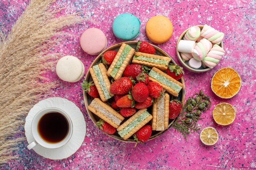
<instances>
[{"instance_id":1,"label":"leftmost green-filled wafer cookie on the plate, nearest the white macaron","mask_svg":"<svg viewBox=\"0 0 256 170\"><path fill-rule=\"evenodd\" d=\"M114 95L110 93L110 81L107 76L107 69L104 64L100 63L98 65L90 68L90 73L93 79L93 82L99 92L99 96L103 102L106 102L108 99Z\"/></svg>"}]
</instances>

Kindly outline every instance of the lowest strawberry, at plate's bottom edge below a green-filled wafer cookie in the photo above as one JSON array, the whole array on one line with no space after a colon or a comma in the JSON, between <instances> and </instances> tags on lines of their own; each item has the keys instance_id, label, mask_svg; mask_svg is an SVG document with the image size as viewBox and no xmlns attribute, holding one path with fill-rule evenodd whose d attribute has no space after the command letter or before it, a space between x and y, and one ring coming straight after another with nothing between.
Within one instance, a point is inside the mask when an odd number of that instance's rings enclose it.
<instances>
[{"instance_id":1,"label":"lowest strawberry, at plate's bottom edge below a green-filled wafer cookie","mask_svg":"<svg viewBox=\"0 0 256 170\"><path fill-rule=\"evenodd\" d=\"M134 140L137 141L137 143L138 142L144 143L148 141L151 134L152 134L152 127L150 125L145 125L142 128L140 128L137 132L135 132L135 135L133 137L134 137Z\"/></svg>"}]
</instances>

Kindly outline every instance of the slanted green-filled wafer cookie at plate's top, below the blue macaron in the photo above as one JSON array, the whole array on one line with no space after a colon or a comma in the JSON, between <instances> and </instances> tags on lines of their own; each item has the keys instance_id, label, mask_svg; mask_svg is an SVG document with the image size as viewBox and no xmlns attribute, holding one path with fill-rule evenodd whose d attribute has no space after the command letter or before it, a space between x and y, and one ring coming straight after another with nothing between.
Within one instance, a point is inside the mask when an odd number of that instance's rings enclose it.
<instances>
[{"instance_id":1,"label":"slanted green-filled wafer cookie at plate's top, below the blue macaron","mask_svg":"<svg viewBox=\"0 0 256 170\"><path fill-rule=\"evenodd\" d=\"M122 76L126 66L128 66L128 64L130 63L134 52L135 49L133 49L129 45L122 44L117 52L115 59L108 68L107 75L109 77L113 77L115 80L119 79Z\"/></svg>"}]
</instances>

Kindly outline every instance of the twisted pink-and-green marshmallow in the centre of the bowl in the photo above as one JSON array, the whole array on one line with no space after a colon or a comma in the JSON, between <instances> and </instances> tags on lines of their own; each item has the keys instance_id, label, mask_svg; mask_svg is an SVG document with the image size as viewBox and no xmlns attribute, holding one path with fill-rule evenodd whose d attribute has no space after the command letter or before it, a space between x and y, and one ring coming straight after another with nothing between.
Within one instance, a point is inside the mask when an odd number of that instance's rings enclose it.
<instances>
[{"instance_id":1,"label":"twisted pink-and-green marshmallow in the centre of the bowl","mask_svg":"<svg viewBox=\"0 0 256 170\"><path fill-rule=\"evenodd\" d=\"M207 53L210 51L212 44L209 40L203 38L198 42L195 48L192 50L193 57L198 60L202 61Z\"/></svg>"}]
</instances>

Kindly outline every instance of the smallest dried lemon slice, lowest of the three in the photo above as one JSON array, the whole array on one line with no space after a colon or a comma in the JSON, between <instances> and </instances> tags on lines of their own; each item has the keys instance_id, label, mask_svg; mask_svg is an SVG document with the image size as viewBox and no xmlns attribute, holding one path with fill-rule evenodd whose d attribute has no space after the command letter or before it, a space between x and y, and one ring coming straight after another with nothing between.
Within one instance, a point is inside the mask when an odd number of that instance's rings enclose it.
<instances>
[{"instance_id":1,"label":"smallest dried lemon slice, lowest of the three","mask_svg":"<svg viewBox=\"0 0 256 170\"><path fill-rule=\"evenodd\" d=\"M200 139L205 145L214 145L218 141L219 136L215 128L207 127L200 133Z\"/></svg>"}]
</instances>

